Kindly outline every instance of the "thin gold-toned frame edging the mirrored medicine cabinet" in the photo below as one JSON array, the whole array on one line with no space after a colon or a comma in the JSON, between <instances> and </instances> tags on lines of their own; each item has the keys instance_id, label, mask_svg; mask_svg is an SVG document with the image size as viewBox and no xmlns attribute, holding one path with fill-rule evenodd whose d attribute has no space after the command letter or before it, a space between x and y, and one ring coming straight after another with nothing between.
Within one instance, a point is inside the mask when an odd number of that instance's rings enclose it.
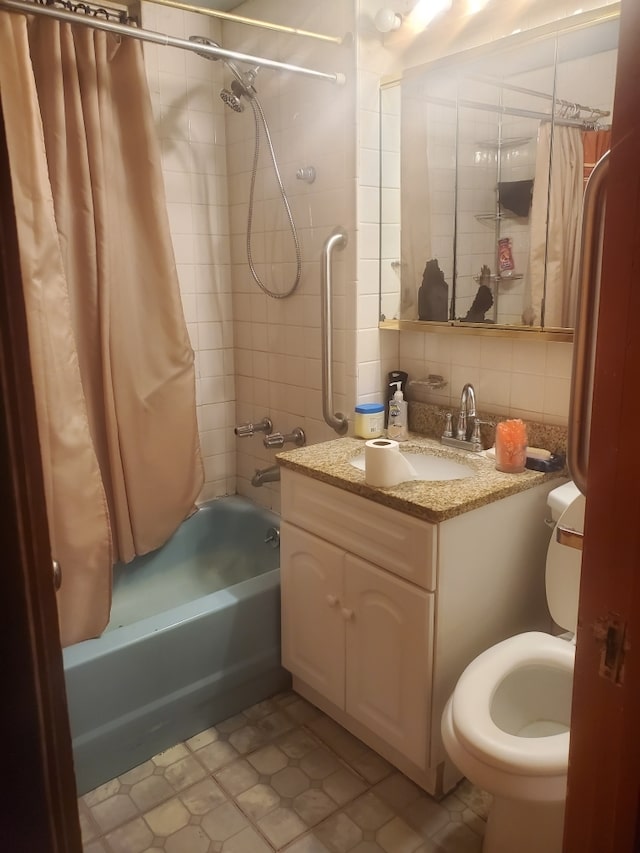
<instances>
[{"instance_id":1,"label":"thin gold-toned frame edging the mirrored medicine cabinet","mask_svg":"<svg viewBox=\"0 0 640 853\"><path fill-rule=\"evenodd\" d=\"M572 31L584 29L594 26L599 23L620 18L620 2L611 3L607 6L601 6L597 9L592 9L588 12L572 15L566 19L552 21L548 24L543 24L539 27L534 27L531 30L524 30L518 33L504 36L492 42L486 42L475 47L466 48L454 53L440 56L437 59L425 62L421 65L412 66L404 69L400 75L393 77L385 77L380 81L380 98L382 92L392 86L398 86L402 80L407 77L414 77L418 74L424 74L430 71L440 71L452 67L460 62L473 62L478 59L483 59L496 50L508 50L517 48L522 45L530 45L536 41L549 38L555 34L562 35ZM382 109L380 109L380 117L382 119ZM383 151L380 148L380 173L382 174L382 157ZM382 186L380 187L382 192ZM400 227L402 227L400 225ZM382 217L379 223L379 239L382 245ZM379 258L379 264L382 259ZM382 298L382 281L379 271L379 300ZM379 303L380 304L380 303ZM436 322L433 320L379 320L379 329L392 329L394 331L411 331L411 332L435 332L438 334L471 334L488 335L490 337L509 337L529 340L552 340L552 341L573 341L574 331L567 328L543 328L541 326L513 326L484 323L463 323L460 320L447 320Z\"/></svg>"}]
</instances>

